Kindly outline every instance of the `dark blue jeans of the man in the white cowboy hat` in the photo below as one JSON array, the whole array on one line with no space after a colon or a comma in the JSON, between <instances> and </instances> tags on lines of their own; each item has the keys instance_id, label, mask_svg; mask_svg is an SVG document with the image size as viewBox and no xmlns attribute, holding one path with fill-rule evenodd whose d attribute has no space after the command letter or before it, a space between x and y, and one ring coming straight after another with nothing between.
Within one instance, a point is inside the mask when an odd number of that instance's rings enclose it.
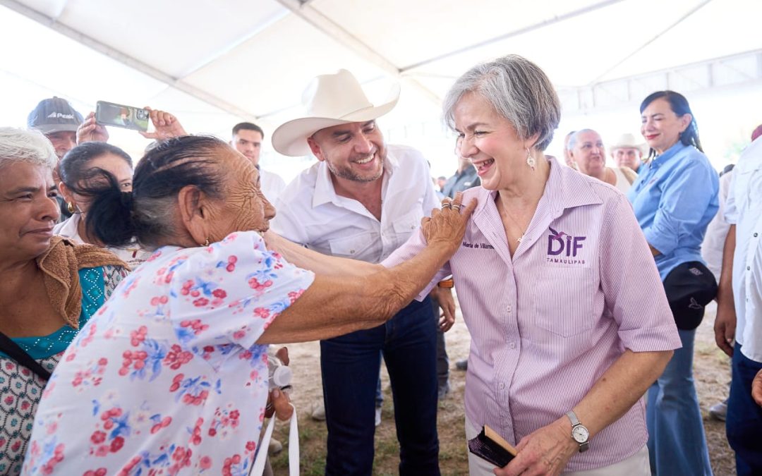
<instances>
[{"instance_id":1,"label":"dark blue jeans of the man in the white cowboy hat","mask_svg":"<svg viewBox=\"0 0 762 476\"><path fill-rule=\"evenodd\" d=\"M321 340L328 455L325 474L370 475L379 352L392 385L399 474L439 472L437 326L431 300L413 301L379 327Z\"/></svg>"}]
</instances>

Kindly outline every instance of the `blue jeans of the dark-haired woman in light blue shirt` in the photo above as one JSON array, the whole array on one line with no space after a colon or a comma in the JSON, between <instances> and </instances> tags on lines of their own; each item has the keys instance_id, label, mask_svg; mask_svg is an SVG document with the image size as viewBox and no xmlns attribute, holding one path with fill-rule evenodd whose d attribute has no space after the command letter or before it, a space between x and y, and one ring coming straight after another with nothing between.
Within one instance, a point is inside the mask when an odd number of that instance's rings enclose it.
<instances>
[{"instance_id":1,"label":"blue jeans of the dark-haired woman in light blue shirt","mask_svg":"<svg viewBox=\"0 0 762 476\"><path fill-rule=\"evenodd\" d=\"M693 385L693 339L696 331L677 330L683 347L648 389L645 420L651 472L658 476L711 475L709 451Z\"/></svg>"}]
</instances>

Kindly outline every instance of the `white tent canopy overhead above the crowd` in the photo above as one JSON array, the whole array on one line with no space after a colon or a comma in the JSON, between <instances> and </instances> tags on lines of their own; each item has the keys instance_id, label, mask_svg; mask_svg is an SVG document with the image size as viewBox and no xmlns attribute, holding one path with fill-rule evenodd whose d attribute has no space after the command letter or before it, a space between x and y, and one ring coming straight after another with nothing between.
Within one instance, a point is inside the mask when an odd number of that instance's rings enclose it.
<instances>
[{"instance_id":1,"label":"white tent canopy overhead above the crowd","mask_svg":"<svg viewBox=\"0 0 762 476\"><path fill-rule=\"evenodd\" d=\"M632 109L648 92L675 84L677 76L677 85L698 85L697 91L732 86L758 97L762 89L758 0L0 5L7 7L0 8L0 84L10 106L2 119L13 125L23 125L39 99L55 94L83 112L98 100L149 104L175 113L194 132L227 137L240 120L255 120L271 132L299 113L310 78L346 68L372 96L383 97L390 81L401 81L400 104L381 123L387 139L415 139L424 152L447 161L449 170L452 143L442 140L439 101L470 66L506 53L545 69L565 103L565 120L598 112L601 97L603 109ZM670 76L681 65L691 66ZM700 79L705 69L716 78ZM636 110L627 127L637 130ZM134 133L112 136L133 154L146 143ZM266 165L304 166L269 154Z\"/></svg>"}]
</instances>

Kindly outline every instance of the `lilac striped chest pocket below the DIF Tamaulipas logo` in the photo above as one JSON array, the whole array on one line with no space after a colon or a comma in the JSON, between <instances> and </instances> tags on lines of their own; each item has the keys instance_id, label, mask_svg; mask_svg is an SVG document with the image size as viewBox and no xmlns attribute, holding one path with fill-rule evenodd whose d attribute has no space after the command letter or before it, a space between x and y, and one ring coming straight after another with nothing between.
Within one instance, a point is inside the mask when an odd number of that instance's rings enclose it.
<instances>
[{"instance_id":1,"label":"lilac striped chest pocket below the DIF Tamaulipas logo","mask_svg":"<svg viewBox=\"0 0 762 476\"><path fill-rule=\"evenodd\" d=\"M591 331L597 322L594 309L598 280L593 268L548 267L538 270L531 285L532 327L559 337Z\"/></svg>"}]
</instances>

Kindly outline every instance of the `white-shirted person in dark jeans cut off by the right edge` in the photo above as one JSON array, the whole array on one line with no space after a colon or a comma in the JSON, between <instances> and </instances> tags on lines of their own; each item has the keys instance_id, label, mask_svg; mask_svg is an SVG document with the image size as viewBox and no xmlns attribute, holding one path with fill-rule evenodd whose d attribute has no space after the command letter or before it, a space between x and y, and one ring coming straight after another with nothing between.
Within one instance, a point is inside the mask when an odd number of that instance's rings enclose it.
<instances>
[{"instance_id":1,"label":"white-shirted person in dark jeans cut off by the right edge","mask_svg":"<svg viewBox=\"0 0 762 476\"><path fill-rule=\"evenodd\" d=\"M731 180L715 340L732 356L728 442L738 475L751 476L762 474L762 407L751 395L752 382L762 372L762 138L741 154Z\"/></svg>"}]
</instances>

